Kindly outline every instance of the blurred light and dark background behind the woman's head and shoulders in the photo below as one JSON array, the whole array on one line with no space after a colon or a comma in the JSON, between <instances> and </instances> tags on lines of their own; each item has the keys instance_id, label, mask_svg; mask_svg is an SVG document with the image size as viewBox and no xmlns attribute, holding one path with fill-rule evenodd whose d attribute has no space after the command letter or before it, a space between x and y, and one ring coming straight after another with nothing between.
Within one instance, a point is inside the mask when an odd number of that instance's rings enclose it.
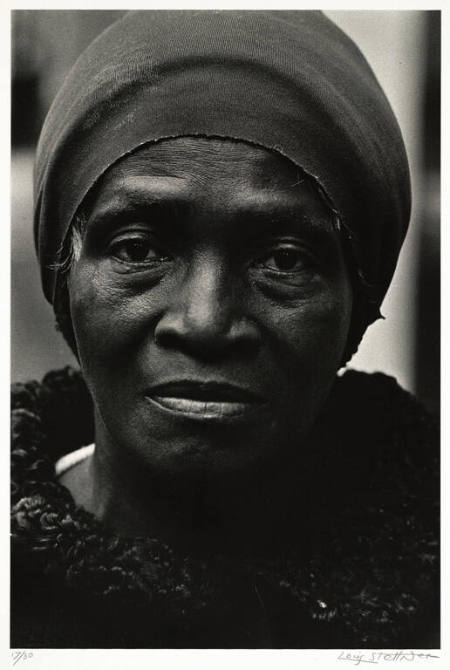
<instances>
[{"instance_id":1,"label":"blurred light and dark background behind the woman's head and shoulders","mask_svg":"<svg viewBox=\"0 0 450 670\"><path fill-rule=\"evenodd\" d=\"M439 408L440 12L327 11L358 44L402 128L413 214L384 302L350 367L395 376ZM12 381L76 364L41 295L32 236L34 147L45 114L81 51L122 11L12 12Z\"/></svg>"}]
</instances>

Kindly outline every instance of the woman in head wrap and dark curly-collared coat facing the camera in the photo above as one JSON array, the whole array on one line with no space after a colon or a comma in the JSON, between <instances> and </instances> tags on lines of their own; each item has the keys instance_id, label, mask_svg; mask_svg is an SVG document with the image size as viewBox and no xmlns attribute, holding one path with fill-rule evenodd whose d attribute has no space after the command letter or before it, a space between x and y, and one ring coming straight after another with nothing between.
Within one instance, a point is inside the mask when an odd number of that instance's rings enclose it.
<instances>
[{"instance_id":1,"label":"woman in head wrap and dark curly-collared coat facing the camera","mask_svg":"<svg viewBox=\"0 0 450 670\"><path fill-rule=\"evenodd\" d=\"M409 212L389 104L320 12L97 38L37 152L81 373L13 396L13 646L438 646L435 423L336 377Z\"/></svg>"}]
</instances>

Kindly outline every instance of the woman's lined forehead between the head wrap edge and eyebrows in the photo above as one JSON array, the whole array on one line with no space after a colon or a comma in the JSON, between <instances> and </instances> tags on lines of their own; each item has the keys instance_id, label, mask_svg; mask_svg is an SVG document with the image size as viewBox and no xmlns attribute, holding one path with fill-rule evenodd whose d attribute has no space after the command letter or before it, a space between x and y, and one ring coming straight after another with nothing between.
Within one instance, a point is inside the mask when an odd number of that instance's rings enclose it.
<instances>
[{"instance_id":1,"label":"woman's lined forehead between the head wrap edge and eyebrows","mask_svg":"<svg viewBox=\"0 0 450 670\"><path fill-rule=\"evenodd\" d=\"M300 168L276 152L234 140L189 137L147 145L108 170L93 207L166 201L220 213L304 214L332 231L329 209Z\"/></svg>"}]
</instances>

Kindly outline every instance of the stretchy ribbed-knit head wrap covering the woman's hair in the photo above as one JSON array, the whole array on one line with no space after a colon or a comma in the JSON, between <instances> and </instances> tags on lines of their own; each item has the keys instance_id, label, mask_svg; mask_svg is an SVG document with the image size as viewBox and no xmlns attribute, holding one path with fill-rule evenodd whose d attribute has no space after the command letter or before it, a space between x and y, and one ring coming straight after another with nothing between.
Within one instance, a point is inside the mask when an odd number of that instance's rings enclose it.
<instances>
[{"instance_id":1,"label":"stretchy ribbed-knit head wrap covering the woman's hair","mask_svg":"<svg viewBox=\"0 0 450 670\"><path fill-rule=\"evenodd\" d=\"M116 161L180 136L274 150L339 217L378 315L410 214L398 124L355 44L321 12L130 12L76 62L45 121L35 168L35 241L54 303L74 215Z\"/></svg>"}]
</instances>

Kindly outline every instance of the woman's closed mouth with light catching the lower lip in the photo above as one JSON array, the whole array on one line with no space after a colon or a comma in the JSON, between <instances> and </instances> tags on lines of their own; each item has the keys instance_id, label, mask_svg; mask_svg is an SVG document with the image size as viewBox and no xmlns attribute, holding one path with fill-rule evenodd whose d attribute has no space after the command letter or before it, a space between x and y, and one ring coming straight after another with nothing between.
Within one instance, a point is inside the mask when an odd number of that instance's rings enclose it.
<instances>
[{"instance_id":1,"label":"woman's closed mouth with light catching the lower lip","mask_svg":"<svg viewBox=\"0 0 450 670\"><path fill-rule=\"evenodd\" d=\"M226 420L266 404L261 396L221 382L183 380L154 386L146 398L163 410L201 420Z\"/></svg>"}]
</instances>

